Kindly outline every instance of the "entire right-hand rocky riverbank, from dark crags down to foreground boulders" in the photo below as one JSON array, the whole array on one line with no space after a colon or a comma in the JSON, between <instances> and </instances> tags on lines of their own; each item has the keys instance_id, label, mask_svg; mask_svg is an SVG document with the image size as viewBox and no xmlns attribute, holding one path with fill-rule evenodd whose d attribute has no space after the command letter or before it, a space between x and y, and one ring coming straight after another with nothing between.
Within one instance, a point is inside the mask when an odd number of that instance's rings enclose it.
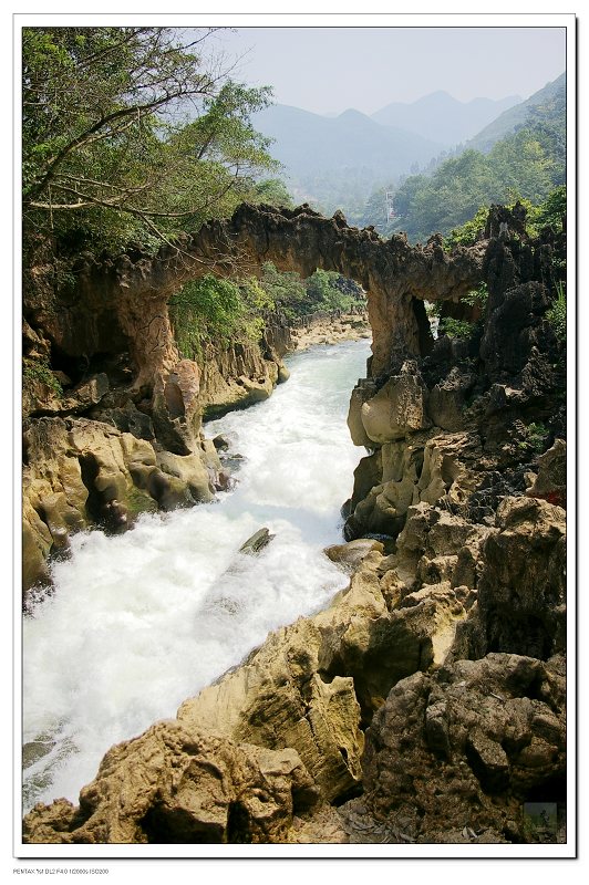
<instances>
[{"instance_id":1,"label":"entire right-hand rocky riverbank, from dark crags down to foreground boulders","mask_svg":"<svg viewBox=\"0 0 589 885\"><path fill-rule=\"evenodd\" d=\"M488 301L465 340L424 334L420 353L371 305L378 360L349 415L369 455L349 543L326 551L348 589L112 748L78 806L37 805L24 841L566 839L564 235L530 241L495 208L469 256L426 249L416 267L456 293L466 268Z\"/></svg>"}]
</instances>

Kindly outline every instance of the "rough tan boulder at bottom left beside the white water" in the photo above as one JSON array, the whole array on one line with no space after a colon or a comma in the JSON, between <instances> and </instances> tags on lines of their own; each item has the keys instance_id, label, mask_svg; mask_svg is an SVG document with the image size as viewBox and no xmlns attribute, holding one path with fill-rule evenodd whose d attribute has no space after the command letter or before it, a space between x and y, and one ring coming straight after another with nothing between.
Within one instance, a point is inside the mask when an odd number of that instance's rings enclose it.
<instances>
[{"instance_id":1,"label":"rough tan boulder at bottom left beside the white water","mask_svg":"<svg viewBox=\"0 0 589 885\"><path fill-rule=\"evenodd\" d=\"M236 746L168 720L113 747L79 808L35 805L23 842L281 842L317 799L293 750Z\"/></svg>"}]
</instances>

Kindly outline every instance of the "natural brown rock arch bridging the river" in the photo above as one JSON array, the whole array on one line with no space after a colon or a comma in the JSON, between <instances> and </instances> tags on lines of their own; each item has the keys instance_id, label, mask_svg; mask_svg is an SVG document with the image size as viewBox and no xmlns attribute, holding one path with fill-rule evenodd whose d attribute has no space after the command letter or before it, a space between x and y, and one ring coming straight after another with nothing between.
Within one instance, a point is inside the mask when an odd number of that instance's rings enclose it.
<instances>
[{"instance_id":1,"label":"natural brown rock arch bridging the river","mask_svg":"<svg viewBox=\"0 0 589 885\"><path fill-rule=\"evenodd\" d=\"M359 230L341 212L328 219L308 206L297 209L242 204L232 218L209 221L155 257L128 252L96 260L84 256L73 289L56 301L25 299L28 317L69 357L128 351L137 385L149 385L178 360L167 301L188 280L261 273L272 261L303 278L317 269L355 280L368 292L373 331L371 375L388 373L399 357L425 354L432 345L424 300L458 300L480 280L484 246L453 256L438 237L412 247L404 235L383 240Z\"/></svg>"}]
</instances>

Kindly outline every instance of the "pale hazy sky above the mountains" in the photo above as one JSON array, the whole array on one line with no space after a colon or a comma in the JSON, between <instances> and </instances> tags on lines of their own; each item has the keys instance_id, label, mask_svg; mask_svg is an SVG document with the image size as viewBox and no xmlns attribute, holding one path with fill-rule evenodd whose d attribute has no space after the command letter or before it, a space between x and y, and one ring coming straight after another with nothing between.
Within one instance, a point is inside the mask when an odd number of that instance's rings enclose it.
<instances>
[{"instance_id":1,"label":"pale hazy sky above the mountains","mask_svg":"<svg viewBox=\"0 0 589 885\"><path fill-rule=\"evenodd\" d=\"M564 28L240 28L216 40L246 53L240 80L319 114L371 114L437 90L527 98L566 66Z\"/></svg>"}]
</instances>

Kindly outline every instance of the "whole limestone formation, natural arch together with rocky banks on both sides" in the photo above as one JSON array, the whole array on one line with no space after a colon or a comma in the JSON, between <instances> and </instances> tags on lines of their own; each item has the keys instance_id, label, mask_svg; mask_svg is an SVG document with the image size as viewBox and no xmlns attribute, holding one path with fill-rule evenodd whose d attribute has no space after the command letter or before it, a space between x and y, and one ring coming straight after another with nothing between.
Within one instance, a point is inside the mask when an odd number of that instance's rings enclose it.
<instances>
[{"instance_id":1,"label":"whole limestone formation, natural arch together with rocky banks on both sides","mask_svg":"<svg viewBox=\"0 0 589 885\"><path fill-rule=\"evenodd\" d=\"M38 569L101 508L116 521L130 496L166 507L209 493L218 456L195 404L207 385L220 408L235 392L214 368L197 377L179 367L165 310L200 261L227 274L237 256L254 270L266 260L338 270L368 290L374 337L349 414L369 450L345 504L349 543L326 551L351 572L349 586L270 634L177 720L113 748L79 808L38 805L29 842L525 842L524 804L562 804L565 366L547 319L559 242L531 241L519 209L495 207L485 239L448 256L438 237L412 248L308 207L241 207L186 238L182 262L165 250L110 268L89 259L68 314L41 295L31 305L27 341L39 358L58 341L74 347L72 330L87 319L76 298L93 280L103 300L86 351L104 346L106 310L113 347L145 334L131 348L133 405L108 389L92 406L108 423L58 409L27 430ZM480 317L461 314L482 280ZM425 298L475 320L469 339L434 343ZM227 357L229 386L240 386L241 356ZM264 358L273 356L268 345ZM264 373L260 364L259 391L241 385L245 399L262 395ZM137 414L153 417L167 451ZM145 436L130 438L116 424L125 420Z\"/></svg>"}]
</instances>

